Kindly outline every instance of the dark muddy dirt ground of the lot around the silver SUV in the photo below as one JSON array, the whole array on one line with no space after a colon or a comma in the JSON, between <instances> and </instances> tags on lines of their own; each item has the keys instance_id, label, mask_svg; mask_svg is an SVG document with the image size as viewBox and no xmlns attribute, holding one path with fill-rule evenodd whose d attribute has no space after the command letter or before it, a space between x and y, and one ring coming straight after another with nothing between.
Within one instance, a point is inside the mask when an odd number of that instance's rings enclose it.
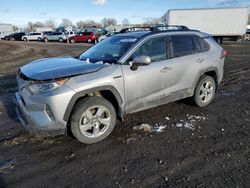
<instances>
[{"instance_id":1,"label":"dark muddy dirt ground of the lot around the silver SUV","mask_svg":"<svg viewBox=\"0 0 250 188\"><path fill-rule=\"evenodd\" d=\"M0 187L250 186L250 43L223 45L225 77L207 108L181 101L129 115L94 145L26 133L12 100L18 68L87 47L0 41ZM162 132L133 129L142 123Z\"/></svg>"}]
</instances>

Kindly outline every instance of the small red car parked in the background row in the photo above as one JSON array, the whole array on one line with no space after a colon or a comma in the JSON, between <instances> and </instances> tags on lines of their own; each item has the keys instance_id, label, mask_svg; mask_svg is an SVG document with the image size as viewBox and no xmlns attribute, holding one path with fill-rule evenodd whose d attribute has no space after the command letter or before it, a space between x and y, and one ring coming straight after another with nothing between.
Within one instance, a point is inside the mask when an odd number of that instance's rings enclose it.
<instances>
[{"instance_id":1,"label":"small red car parked in the background row","mask_svg":"<svg viewBox=\"0 0 250 188\"><path fill-rule=\"evenodd\" d=\"M95 42L98 40L98 35L93 32L81 32L69 38L69 42Z\"/></svg>"}]
</instances>

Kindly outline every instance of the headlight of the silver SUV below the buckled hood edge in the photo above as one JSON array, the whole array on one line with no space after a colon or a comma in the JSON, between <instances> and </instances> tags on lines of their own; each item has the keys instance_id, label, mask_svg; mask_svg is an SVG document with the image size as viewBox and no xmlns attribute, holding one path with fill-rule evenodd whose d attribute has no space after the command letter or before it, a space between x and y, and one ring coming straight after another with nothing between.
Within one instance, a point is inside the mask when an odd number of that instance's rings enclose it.
<instances>
[{"instance_id":1,"label":"headlight of the silver SUV below the buckled hood edge","mask_svg":"<svg viewBox=\"0 0 250 188\"><path fill-rule=\"evenodd\" d=\"M68 79L57 80L54 82L34 83L34 84L29 85L28 89L32 94L53 91L53 90L61 87L67 80Z\"/></svg>"}]
</instances>

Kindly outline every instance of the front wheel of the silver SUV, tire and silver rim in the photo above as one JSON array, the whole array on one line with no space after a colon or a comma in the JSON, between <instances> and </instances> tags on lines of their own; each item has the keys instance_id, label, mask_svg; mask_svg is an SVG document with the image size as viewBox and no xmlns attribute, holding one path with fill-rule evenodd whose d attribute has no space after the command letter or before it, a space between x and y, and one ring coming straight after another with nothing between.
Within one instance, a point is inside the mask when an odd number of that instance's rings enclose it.
<instances>
[{"instance_id":1,"label":"front wheel of the silver SUV, tire and silver rim","mask_svg":"<svg viewBox=\"0 0 250 188\"><path fill-rule=\"evenodd\" d=\"M104 140L113 131L115 124L116 111L102 97L87 97L79 101L70 120L73 135L85 144Z\"/></svg>"}]
</instances>

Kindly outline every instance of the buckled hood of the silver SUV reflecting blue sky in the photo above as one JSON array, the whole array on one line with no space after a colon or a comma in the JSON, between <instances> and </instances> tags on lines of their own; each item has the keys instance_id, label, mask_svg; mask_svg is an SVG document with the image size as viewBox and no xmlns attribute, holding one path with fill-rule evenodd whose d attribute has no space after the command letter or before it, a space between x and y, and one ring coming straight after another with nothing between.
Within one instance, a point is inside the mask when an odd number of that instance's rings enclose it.
<instances>
[{"instance_id":1,"label":"buckled hood of the silver SUV reflecting blue sky","mask_svg":"<svg viewBox=\"0 0 250 188\"><path fill-rule=\"evenodd\" d=\"M87 63L72 57L47 58L33 61L20 68L21 72L33 80L52 80L88 74L102 69L104 64Z\"/></svg>"}]
</instances>

